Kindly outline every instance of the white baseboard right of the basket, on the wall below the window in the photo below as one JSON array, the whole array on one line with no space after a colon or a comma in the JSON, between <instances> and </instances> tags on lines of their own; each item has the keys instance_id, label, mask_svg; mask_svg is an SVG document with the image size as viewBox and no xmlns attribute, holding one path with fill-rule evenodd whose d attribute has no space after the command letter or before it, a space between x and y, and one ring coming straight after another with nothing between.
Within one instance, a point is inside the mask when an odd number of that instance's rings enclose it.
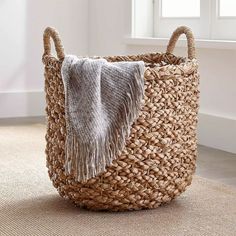
<instances>
[{"instance_id":1,"label":"white baseboard right of the basket, on the wall below the window","mask_svg":"<svg viewBox=\"0 0 236 236\"><path fill-rule=\"evenodd\" d=\"M200 113L198 143L236 153L236 120Z\"/></svg>"}]
</instances>

